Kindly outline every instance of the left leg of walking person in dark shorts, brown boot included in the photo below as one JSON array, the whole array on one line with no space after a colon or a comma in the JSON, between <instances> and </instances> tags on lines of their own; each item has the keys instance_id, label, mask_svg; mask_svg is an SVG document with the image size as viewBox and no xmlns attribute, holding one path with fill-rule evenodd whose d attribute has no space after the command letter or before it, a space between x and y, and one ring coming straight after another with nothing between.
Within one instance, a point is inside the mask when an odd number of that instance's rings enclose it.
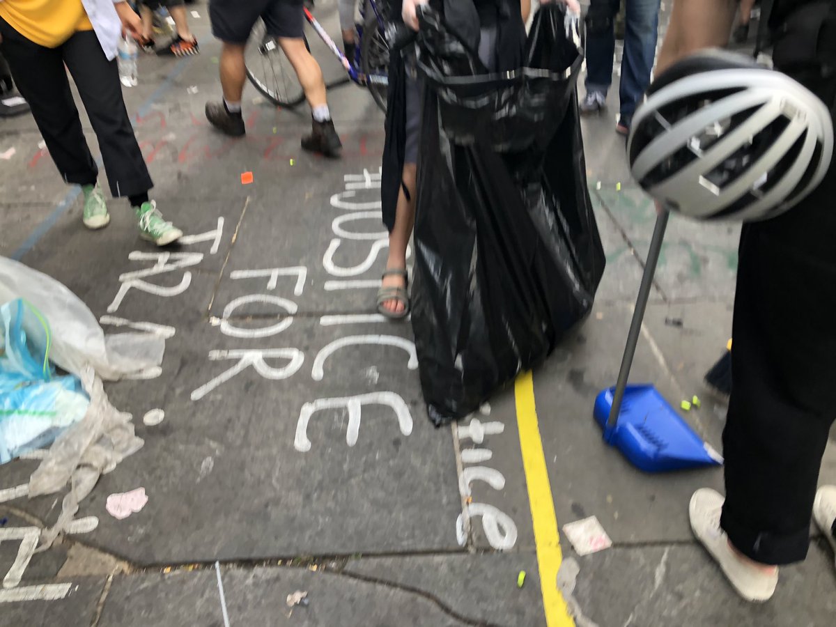
<instances>
[{"instance_id":1,"label":"left leg of walking person in dark shorts, brown boot included","mask_svg":"<svg viewBox=\"0 0 836 627\"><path fill-rule=\"evenodd\" d=\"M206 120L227 135L241 136L247 132L241 115L241 99L247 80L244 49L253 25L267 5L265 0L246 3L237 0L211 0L209 19L212 34L222 41L218 60L221 74L222 102L206 103Z\"/></svg>"}]
</instances>

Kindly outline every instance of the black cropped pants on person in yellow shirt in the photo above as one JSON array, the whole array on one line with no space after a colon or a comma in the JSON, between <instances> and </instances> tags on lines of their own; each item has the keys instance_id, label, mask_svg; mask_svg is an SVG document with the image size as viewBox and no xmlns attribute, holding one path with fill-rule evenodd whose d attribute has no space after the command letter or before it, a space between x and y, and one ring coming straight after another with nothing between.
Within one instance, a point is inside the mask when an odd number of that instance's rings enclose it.
<instances>
[{"instance_id":1,"label":"black cropped pants on person in yellow shirt","mask_svg":"<svg viewBox=\"0 0 836 627\"><path fill-rule=\"evenodd\" d=\"M87 185L99 175L69 89L66 64L99 140L111 193L135 196L150 190L154 184L125 110L119 69L115 60L104 56L95 33L75 33L58 48L44 48L0 18L0 34L0 50L64 181Z\"/></svg>"}]
</instances>

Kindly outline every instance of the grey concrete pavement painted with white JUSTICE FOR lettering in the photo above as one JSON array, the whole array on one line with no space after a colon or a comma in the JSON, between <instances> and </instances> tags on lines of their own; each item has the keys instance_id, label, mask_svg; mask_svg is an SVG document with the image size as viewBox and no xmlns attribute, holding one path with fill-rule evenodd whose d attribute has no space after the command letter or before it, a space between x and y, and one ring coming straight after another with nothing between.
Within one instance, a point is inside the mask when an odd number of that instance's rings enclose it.
<instances>
[{"instance_id":1,"label":"grey concrete pavement painted with white JUSTICE FOR lettering","mask_svg":"<svg viewBox=\"0 0 836 627\"><path fill-rule=\"evenodd\" d=\"M317 5L337 35L334 0ZM557 588L557 565L544 565L533 532L543 504L528 497L515 390L436 430L410 326L369 315L385 261L382 115L361 89L334 90L345 150L326 161L299 148L305 107L274 110L248 86L247 137L217 134L203 106L220 96L219 46L206 6L190 10L201 56L143 57L140 85L125 90L162 212L205 236L170 251L176 268L137 282L130 273L163 257L136 237L125 201L110 201L104 232L85 231L33 120L0 122L0 152L16 149L0 161L0 254L66 284L109 316L108 332L120 320L174 332L159 376L107 388L145 446L82 502L79 533L31 555L23 537L55 522L61 495L13 492L37 461L0 466L0 491L12 490L0 492L0 573L31 558L0 590L0 625L547 624L543 590ZM613 126L584 122L607 273L594 313L533 379L551 515L561 530L594 515L614 543L581 558L561 533L563 599L578 625L833 624L836 571L822 539L782 570L772 602L742 603L687 522L691 492L721 488L721 470L642 474L592 420L594 395L617 375L655 215ZM718 449L724 407L701 379L730 333L736 249L736 227L671 221L633 375L676 404L700 395L685 417ZM352 415L347 399L359 396ZM165 420L145 425L155 409ZM822 482L836 482L833 446ZM136 487L149 497L140 512L105 511L110 494ZM289 607L296 591L307 604Z\"/></svg>"}]
</instances>

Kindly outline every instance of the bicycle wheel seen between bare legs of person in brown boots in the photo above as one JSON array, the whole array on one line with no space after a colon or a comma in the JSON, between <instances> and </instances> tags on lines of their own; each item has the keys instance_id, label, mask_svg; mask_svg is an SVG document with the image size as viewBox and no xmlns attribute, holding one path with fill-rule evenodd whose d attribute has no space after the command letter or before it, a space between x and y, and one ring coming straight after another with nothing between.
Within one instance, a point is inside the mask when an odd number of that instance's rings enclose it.
<instances>
[{"instance_id":1,"label":"bicycle wheel seen between bare legs of person in brown boots","mask_svg":"<svg viewBox=\"0 0 836 627\"><path fill-rule=\"evenodd\" d=\"M307 38L305 47L310 50ZM247 78L273 104L292 109L304 101L305 93L296 71L276 38L268 35L263 20L259 19L252 28L247 44L246 64Z\"/></svg>"}]
</instances>

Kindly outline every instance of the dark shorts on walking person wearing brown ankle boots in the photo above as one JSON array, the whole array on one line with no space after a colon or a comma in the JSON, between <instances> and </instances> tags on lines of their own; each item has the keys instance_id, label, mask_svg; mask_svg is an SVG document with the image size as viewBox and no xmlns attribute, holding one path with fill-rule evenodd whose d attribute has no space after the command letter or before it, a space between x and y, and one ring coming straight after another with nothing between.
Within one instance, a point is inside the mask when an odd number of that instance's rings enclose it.
<instances>
[{"instance_id":1,"label":"dark shorts on walking person wearing brown ankle boots","mask_svg":"<svg viewBox=\"0 0 836 627\"><path fill-rule=\"evenodd\" d=\"M303 0L210 0L212 34L227 43L247 43L252 27L263 18L274 37L301 39Z\"/></svg>"}]
</instances>

